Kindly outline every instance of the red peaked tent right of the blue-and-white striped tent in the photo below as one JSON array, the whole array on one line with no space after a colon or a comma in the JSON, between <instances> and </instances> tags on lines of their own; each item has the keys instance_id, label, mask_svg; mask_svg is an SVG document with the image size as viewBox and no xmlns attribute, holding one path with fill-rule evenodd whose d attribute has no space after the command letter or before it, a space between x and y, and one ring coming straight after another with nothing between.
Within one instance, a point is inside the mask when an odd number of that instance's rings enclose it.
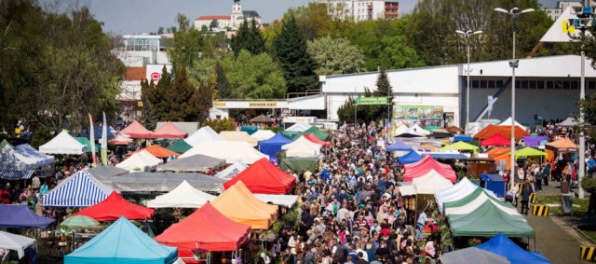
<instances>
[{"instance_id":1,"label":"red peaked tent right of the blue-and-white striped tent","mask_svg":"<svg viewBox=\"0 0 596 264\"><path fill-rule=\"evenodd\" d=\"M124 200L120 194L113 191L102 202L87 207L73 215L89 216L97 221L115 221L124 216L128 220L151 218L153 209L133 204Z\"/></svg>"}]
</instances>

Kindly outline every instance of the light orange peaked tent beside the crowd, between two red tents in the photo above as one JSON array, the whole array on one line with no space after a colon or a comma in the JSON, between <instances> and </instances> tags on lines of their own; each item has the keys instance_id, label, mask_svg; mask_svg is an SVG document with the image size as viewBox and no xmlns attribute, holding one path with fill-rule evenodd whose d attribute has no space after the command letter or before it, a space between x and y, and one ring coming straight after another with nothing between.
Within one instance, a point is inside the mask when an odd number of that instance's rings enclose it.
<instances>
[{"instance_id":1,"label":"light orange peaked tent beside the crowd, between two red tents","mask_svg":"<svg viewBox=\"0 0 596 264\"><path fill-rule=\"evenodd\" d=\"M257 199L241 181L220 194L211 205L232 221L252 229L269 229L277 219L278 206Z\"/></svg>"}]
</instances>

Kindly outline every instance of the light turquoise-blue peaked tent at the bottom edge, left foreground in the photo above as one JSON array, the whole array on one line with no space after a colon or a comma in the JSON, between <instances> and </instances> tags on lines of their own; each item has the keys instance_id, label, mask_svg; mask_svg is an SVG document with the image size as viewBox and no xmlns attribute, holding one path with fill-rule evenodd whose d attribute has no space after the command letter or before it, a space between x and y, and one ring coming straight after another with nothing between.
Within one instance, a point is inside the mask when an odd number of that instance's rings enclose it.
<instances>
[{"instance_id":1,"label":"light turquoise-blue peaked tent at the bottom edge, left foreground","mask_svg":"<svg viewBox=\"0 0 596 264\"><path fill-rule=\"evenodd\" d=\"M157 243L124 217L72 253L64 263L174 263L178 249Z\"/></svg>"}]
</instances>

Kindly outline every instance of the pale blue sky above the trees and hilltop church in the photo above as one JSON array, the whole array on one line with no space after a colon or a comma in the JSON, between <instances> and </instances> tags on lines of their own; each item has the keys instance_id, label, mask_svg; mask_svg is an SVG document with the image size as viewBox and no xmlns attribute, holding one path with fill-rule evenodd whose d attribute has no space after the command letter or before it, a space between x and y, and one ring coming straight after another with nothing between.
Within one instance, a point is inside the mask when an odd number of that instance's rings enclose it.
<instances>
[{"instance_id":1,"label":"pale blue sky above the trees and hilltop church","mask_svg":"<svg viewBox=\"0 0 596 264\"><path fill-rule=\"evenodd\" d=\"M540 0L554 7L557 0ZM52 0L40 0L42 5ZM61 9L72 3L89 7L95 18L104 23L104 31L114 34L156 32L160 26L176 26L176 15L182 13L191 21L202 15L229 15L233 0L65 0ZM243 10L256 10L269 23L281 18L291 7L307 5L312 0L241 0ZM400 15L411 13L418 0L399 1Z\"/></svg>"}]
</instances>

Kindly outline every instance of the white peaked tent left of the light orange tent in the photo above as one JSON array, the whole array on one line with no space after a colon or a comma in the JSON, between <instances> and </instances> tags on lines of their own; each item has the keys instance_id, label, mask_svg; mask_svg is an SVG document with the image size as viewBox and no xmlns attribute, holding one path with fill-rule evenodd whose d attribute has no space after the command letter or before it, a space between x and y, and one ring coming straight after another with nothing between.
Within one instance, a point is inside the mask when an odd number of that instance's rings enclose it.
<instances>
[{"instance_id":1,"label":"white peaked tent left of the light orange tent","mask_svg":"<svg viewBox=\"0 0 596 264\"><path fill-rule=\"evenodd\" d=\"M215 196L197 190L186 180L170 192L159 195L147 202L149 208L199 208L213 201Z\"/></svg>"}]
</instances>

